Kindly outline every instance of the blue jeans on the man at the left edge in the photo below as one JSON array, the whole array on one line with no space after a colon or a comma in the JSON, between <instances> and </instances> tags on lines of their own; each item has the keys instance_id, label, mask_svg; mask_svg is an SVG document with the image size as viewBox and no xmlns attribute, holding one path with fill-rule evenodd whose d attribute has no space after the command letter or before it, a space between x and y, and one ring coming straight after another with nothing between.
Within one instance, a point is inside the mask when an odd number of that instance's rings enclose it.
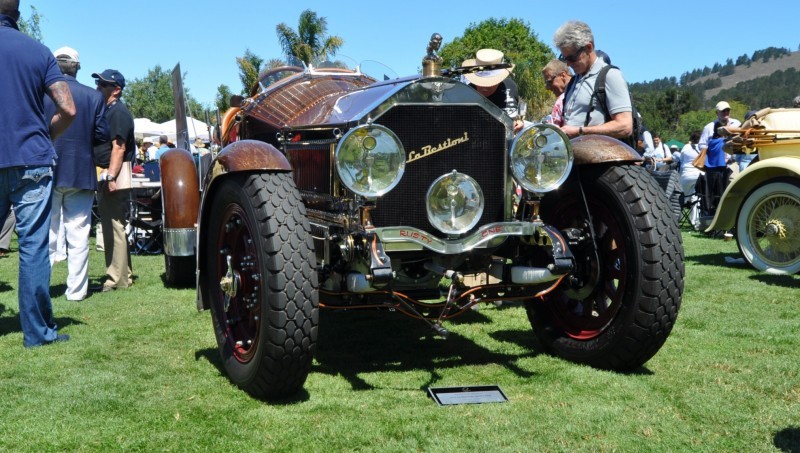
<instances>
[{"instance_id":1,"label":"blue jeans on the man at the left edge","mask_svg":"<svg viewBox=\"0 0 800 453\"><path fill-rule=\"evenodd\" d=\"M50 302L50 204L53 168L0 169L0 215L11 205L19 239L19 321L26 348L50 343L58 335Z\"/></svg>"}]
</instances>

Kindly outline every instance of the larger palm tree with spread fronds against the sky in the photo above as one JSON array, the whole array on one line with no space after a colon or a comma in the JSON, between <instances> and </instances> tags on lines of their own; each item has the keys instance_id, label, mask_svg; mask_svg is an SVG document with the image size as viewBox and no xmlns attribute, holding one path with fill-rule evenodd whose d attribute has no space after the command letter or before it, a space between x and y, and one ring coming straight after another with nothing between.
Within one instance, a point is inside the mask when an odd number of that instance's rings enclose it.
<instances>
[{"instance_id":1,"label":"larger palm tree with spread fronds against the sky","mask_svg":"<svg viewBox=\"0 0 800 453\"><path fill-rule=\"evenodd\" d=\"M317 13L307 9L300 13L297 31L284 23L275 27L287 61L300 60L308 66L328 58L328 54L336 55L344 40L338 36L327 36L328 21L318 17Z\"/></svg>"}]
</instances>

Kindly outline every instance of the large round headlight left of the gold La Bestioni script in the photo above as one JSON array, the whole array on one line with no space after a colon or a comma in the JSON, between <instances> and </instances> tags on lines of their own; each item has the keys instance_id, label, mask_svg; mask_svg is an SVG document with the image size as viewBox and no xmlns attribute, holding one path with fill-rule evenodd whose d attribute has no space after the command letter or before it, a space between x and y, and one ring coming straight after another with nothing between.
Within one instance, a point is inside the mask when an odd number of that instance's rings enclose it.
<instances>
[{"instance_id":1,"label":"large round headlight left of the gold La Bestioni script","mask_svg":"<svg viewBox=\"0 0 800 453\"><path fill-rule=\"evenodd\" d=\"M353 192L368 198L394 189L406 168L406 152L394 132L378 124L351 129L336 147L336 172Z\"/></svg>"}]
</instances>

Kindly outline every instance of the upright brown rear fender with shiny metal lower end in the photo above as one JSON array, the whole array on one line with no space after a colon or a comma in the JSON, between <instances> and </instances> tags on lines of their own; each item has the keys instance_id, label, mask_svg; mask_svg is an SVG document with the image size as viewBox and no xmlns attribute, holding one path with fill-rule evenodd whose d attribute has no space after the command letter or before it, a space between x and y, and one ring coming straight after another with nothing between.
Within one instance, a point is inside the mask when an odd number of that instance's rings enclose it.
<instances>
[{"instance_id":1,"label":"upright brown rear fender with shiny metal lower end","mask_svg":"<svg viewBox=\"0 0 800 453\"><path fill-rule=\"evenodd\" d=\"M192 256L200 207L197 167L191 153L179 148L165 152L159 160L159 166L164 209L164 253Z\"/></svg>"}]
</instances>

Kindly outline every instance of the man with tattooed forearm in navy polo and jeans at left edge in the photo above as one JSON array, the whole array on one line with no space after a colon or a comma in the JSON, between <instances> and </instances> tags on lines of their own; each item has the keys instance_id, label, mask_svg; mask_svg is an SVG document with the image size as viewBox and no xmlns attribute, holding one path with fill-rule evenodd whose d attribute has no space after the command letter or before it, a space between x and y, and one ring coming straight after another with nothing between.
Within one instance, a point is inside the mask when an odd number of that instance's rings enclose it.
<instances>
[{"instance_id":1,"label":"man with tattooed forearm in navy polo and jeans at left edge","mask_svg":"<svg viewBox=\"0 0 800 453\"><path fill-rule=\"evenodd\" d=\"M17 20L19 0L0 0L0 218L14 206L22 342L33 347L69 339L58 334L50 301L50 140L70 125L75 104L53 54L20 32ZM49 124L45 95L56 106Z\"/></svg>"}]
</instances>

